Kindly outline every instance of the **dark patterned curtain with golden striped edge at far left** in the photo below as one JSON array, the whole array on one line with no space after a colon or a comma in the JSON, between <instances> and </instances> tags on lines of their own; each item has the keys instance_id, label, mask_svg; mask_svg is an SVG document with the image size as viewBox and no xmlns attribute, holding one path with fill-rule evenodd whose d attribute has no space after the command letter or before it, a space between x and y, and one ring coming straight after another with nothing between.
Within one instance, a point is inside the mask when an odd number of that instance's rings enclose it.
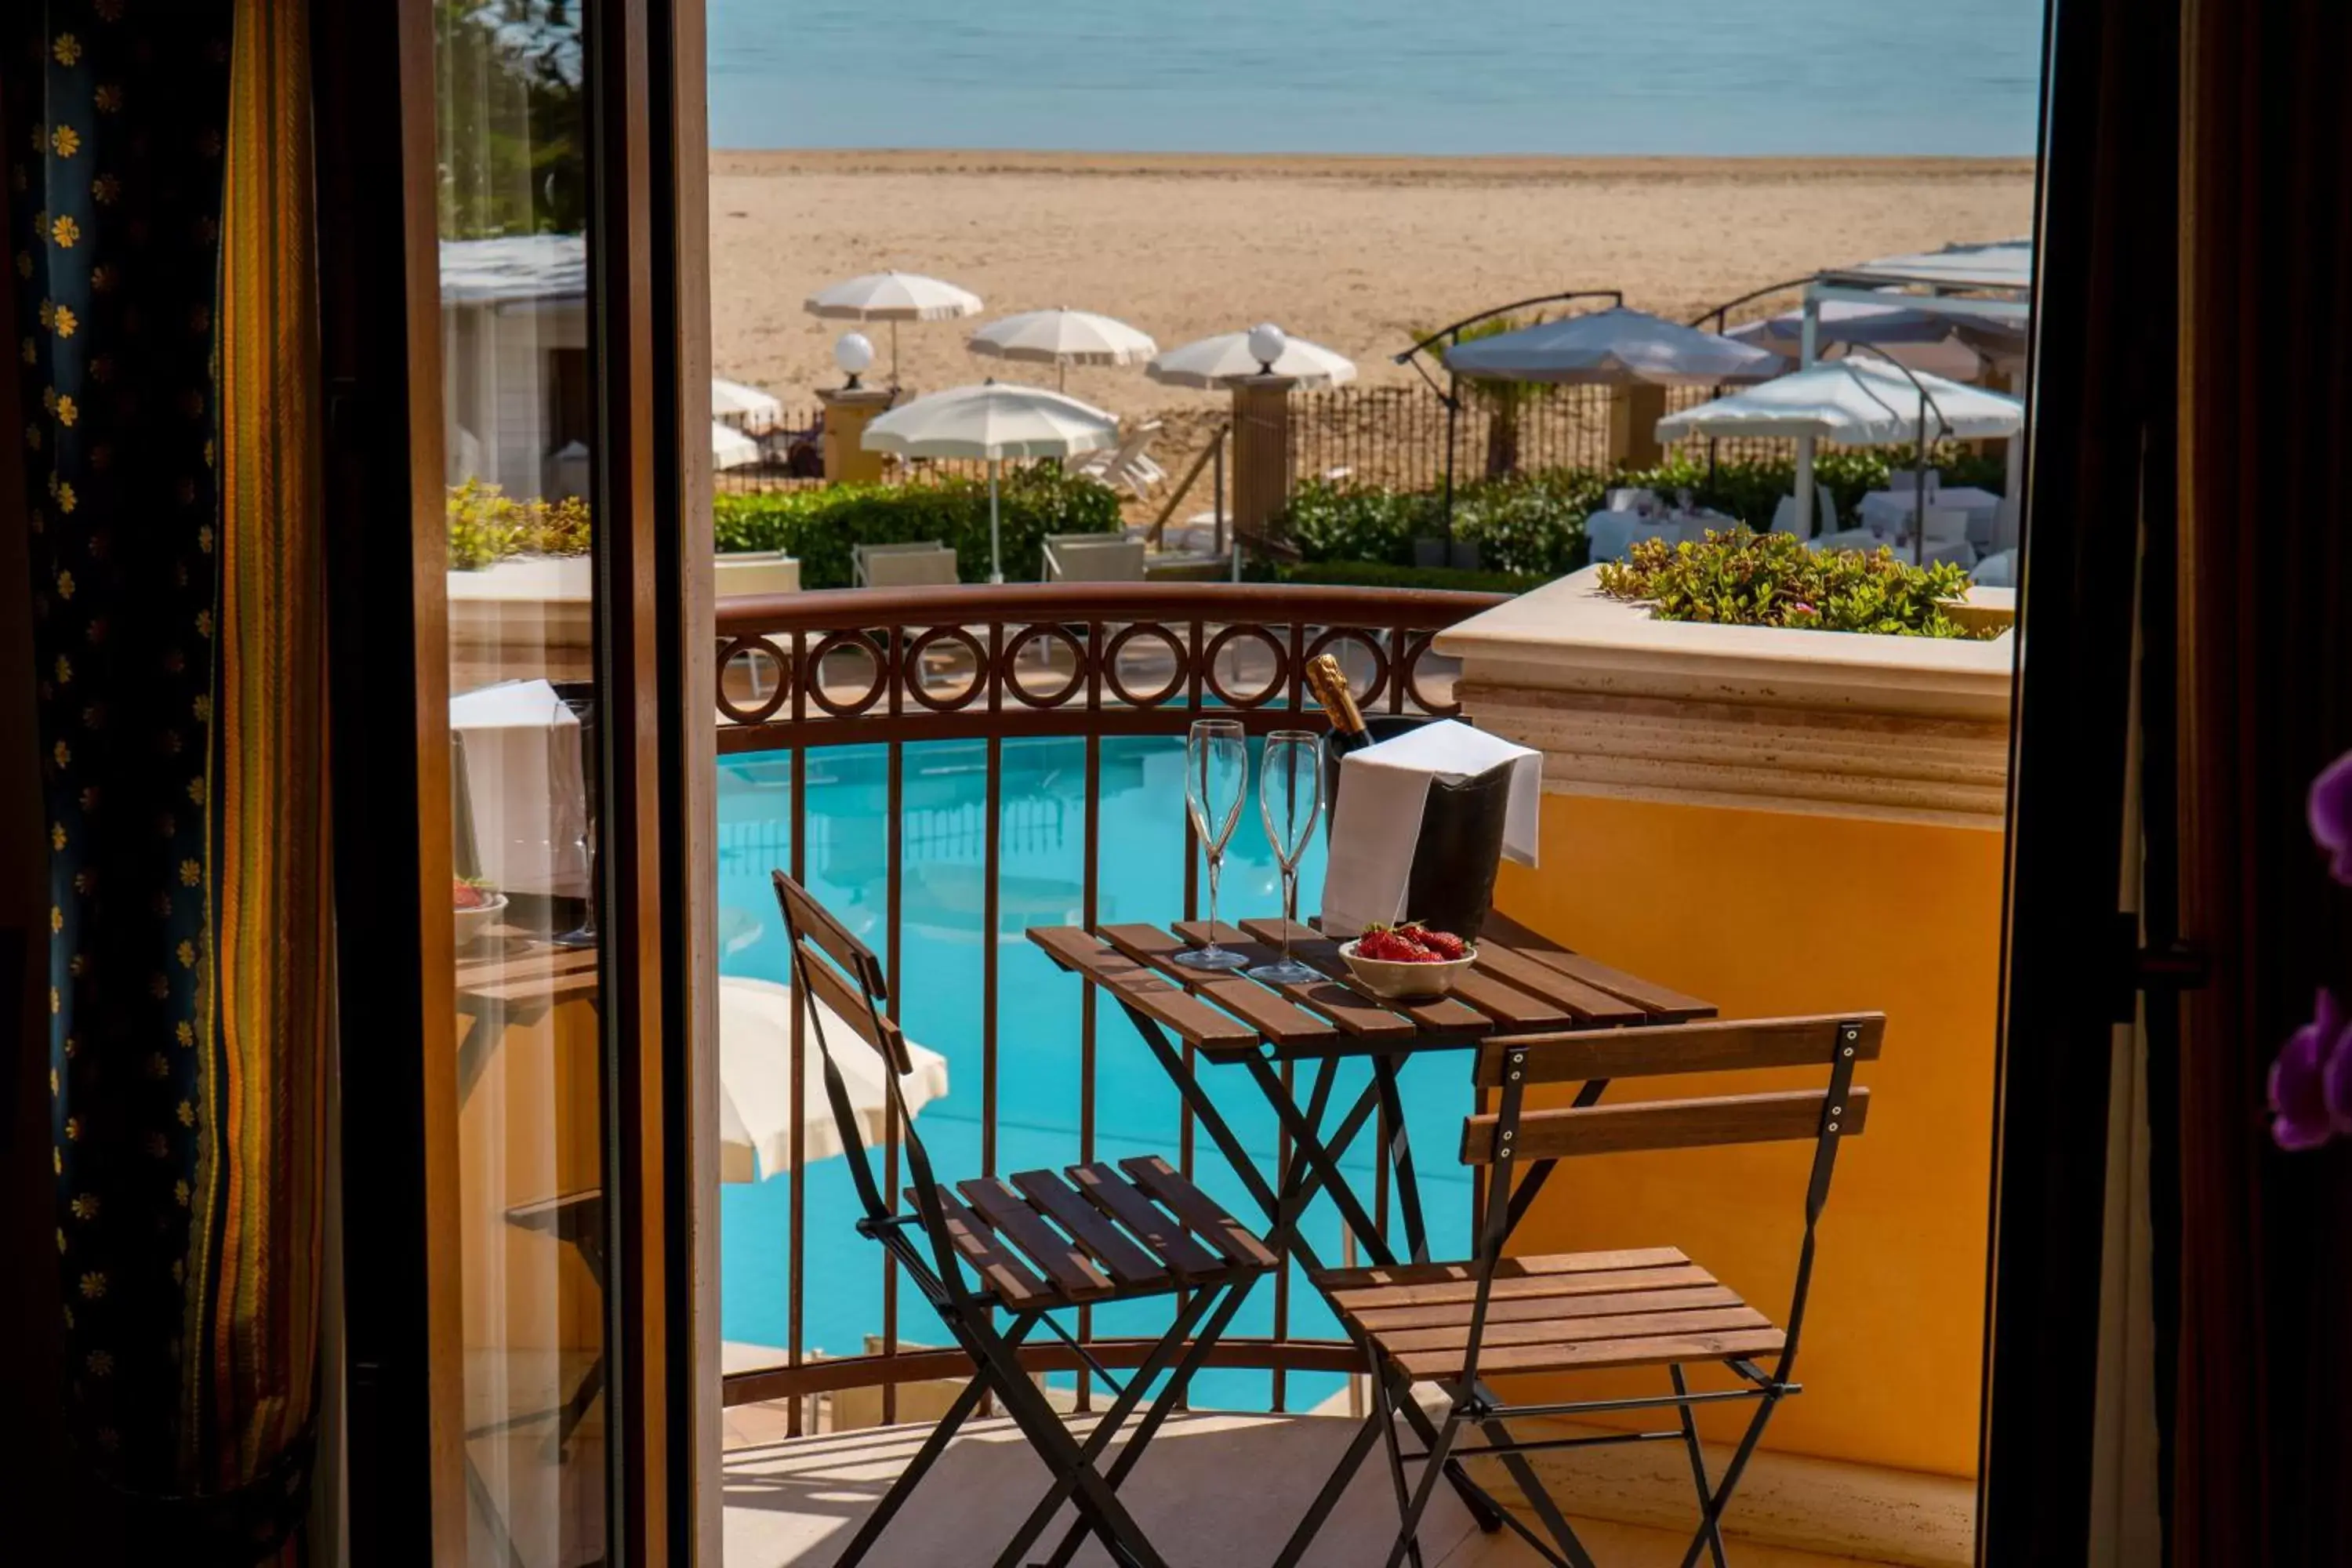
<instances>
[{"instance_id":1,"label":"dark patterned curtain with golden striped edge at far left","mask_svg":"<svg viewBox=\"0 0 2352 1568\"><path fill-rule=\"evenodd\" d=\"M332 1039L301 24L0 24L68 1429L108 1523L179 1561L292 1559L308 1509Z\"/></svg>"}]
</instances>

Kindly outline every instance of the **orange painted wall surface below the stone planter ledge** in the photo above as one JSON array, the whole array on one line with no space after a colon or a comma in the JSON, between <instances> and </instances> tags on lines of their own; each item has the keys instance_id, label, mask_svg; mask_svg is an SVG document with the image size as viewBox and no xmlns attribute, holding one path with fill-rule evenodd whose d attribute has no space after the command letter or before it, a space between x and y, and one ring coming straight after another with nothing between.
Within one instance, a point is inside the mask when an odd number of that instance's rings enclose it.
<instances>
[{"instance_id":1,"label":"orange painted wall surface below the stone planter ledge","mask_svg":"<svg viewBox=\"0 0 2352 1568\"><path fill-rule=\"evenodd\" d=\"M1548 795L1543 867L1496 905L1545 936L1715 1001L1726 1018L1877 1009L1870 1126L1820 1225L1797 1380L1766 1448L1976 1474L2002 835ZM1743 1093L1823 1074L1644 1079L1609 1100ZM1811 1145L1566 1161L1522 1253L1679 1246L1776 1321ZM1512 1396L1663 1392L1665 1375L1519 1380ZM1736 1439L1748 1406L1703 1429Z\"/></svg>"}]
</instances>

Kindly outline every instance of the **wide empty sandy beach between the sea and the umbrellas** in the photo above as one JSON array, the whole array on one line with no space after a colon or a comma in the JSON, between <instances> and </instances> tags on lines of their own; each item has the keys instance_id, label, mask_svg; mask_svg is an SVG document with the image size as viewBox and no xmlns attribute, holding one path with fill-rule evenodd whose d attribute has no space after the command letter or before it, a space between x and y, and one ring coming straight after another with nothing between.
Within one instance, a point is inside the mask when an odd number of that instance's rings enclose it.
<instances>
[{"instance_id":1,"label":"wide empty sandy beach between the sea and the umbrellas","mask_svg":"<svg viewBox=\"0 0 2352 1568\"><path fill-rule=\"evenodd\" d=\"M2030 160L1207 158L713 153L710 329L724 376L788 407L835 386L800 301L877 268L934 273L988 315L1105 310L1174 348L1258 320L1350 355L1367 386L1416 329L1559 289L1689 317L1823 266L2023 235ZM901 327L917 388L1049 367L976 360L971 322ZM873 331L887 353L887 329ZM1070 371L1117 414L1223 402L1138 369ZM1188 421L1185 421L1188 423Z\"/></svg>"}]
</instances>

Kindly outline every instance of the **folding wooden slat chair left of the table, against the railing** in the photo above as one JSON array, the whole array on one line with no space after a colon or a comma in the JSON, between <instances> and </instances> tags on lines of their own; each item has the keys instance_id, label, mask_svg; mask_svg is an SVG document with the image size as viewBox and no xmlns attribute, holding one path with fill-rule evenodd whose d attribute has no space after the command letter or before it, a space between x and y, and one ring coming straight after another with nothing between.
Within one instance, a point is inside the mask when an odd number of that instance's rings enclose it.
<instances>
[{"instance_id":1,"label":"folding wooden slat chair left of the table, against the railing","mask_svg":"<svg viewBox=\"0 0 2352 1568\"><path fill-rule=\"evenodd\" d=\"M995 1396L1054 1474L1051 1488L1023 1521L1021 1530L995 1559L997 1568L1021 1563L1030 1542L1054 1521L1063 1502L1077 1509L1077 1523L1063 1535L1049 1559L1061 1566L1091 1530L1110 1559L1127 1568L1164 1568L1164 1559L1143 1537L1134 1516L1120 1505L1120 1481L1143 1458L1143 1448L1183 1401L1192 1373L1209 1347L1225 1333L1232 1314L1258 1276L1275 1269L1275 1253L1240 1220L1218 1208L1160 1157L1108 1164L1065 1166L1063 1171L1021 1171L1011 1180L967 1180L950 1192L931 1173L931 1157L915 1133L913 1117L898 1093L898 1079L913 1070L906 1037L884 1011L882 964L823 910L807 889L774 875L776 903L793 943L793 973L807 1004L809 1034L823 1056L826 1098L840 1124L849 1175L858 1190L866 1218L858 1232L880 1241L915 1288L938 1312L941 1324L971 1356L971 1385L955 1399L929 1441L898 1474L856 1537L842 1552L837 1568L851 1568L882 1537L891 1516L931 1469L955 1429ZM891 1067L891 1114L898 1117L906 1143L910 1211L896 1211L875 1182L866 1159L858 1114L826 1039L823 1009L830 1009L858 1039ZM1051 1314L1063 1307L1174 1295L1176 1321L1167 1335L1127 1375L1124 1385L1080 1345ZM1004 1314L1004 1324L997 1316ZM1063 1427L1061 1415L1021 1368L1021 1342L1037 1326L1056 1333L1070 1352L1110 1389L1115 1399L1084 1441ZM1167 1382L1136 1422L1134 1436L1117 1460L1101 1469L1098 1460L1112 1436L1134 1415L1145 1389L1162 1373ZM974 1559L978 1561L978 1559Z\"/></svg>"}]
</instances>

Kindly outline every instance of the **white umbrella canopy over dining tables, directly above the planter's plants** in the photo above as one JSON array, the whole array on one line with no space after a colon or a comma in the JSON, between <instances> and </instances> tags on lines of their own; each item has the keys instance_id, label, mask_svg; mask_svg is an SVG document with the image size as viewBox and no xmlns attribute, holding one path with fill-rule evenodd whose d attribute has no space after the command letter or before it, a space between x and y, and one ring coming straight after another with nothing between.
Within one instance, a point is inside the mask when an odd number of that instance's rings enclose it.
<instances>
[{"instance_id":1,"label":"white umbrella canopy over dining tables, directly above the planter's plants","mask_svg":"<svg viewBox=\"0 0 2352 1568\"><path fill-rule=\"evenodd\" d=\"M1686 435L1818 437L1846 447L1893 447L1922 440L1990 440L2025 425L2025 404L1980 386L1872 360L1823 360L1778 381L1750 386L1658 421L1661 442Z\"/></svg>"}]
</instances>

